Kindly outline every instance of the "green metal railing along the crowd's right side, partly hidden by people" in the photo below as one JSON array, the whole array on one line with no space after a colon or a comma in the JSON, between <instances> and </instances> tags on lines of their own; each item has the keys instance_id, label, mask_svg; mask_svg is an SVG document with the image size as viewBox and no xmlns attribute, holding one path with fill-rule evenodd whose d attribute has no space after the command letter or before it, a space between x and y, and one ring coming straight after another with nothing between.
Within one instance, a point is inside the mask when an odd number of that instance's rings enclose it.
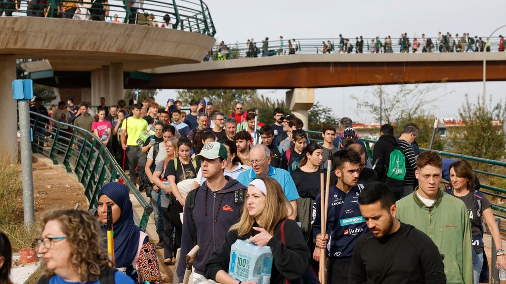
<instances>
[{"instance_id":1,"label":"green metal railing along the crowd's right side, partly hidden by people","mask_svg":"<svg viewBox=\"0 0 506 284\"><path fill-rule=\"evenodd\" d=\"M311 131L311 130L308 130L306 132L308 132L309 138L311 139L311 141L317 142L317 143L323 143L323 141L321 140L321 132ZM370 144L374 145L377 140L365 139L365 138L362 138L362 140L365 142L367 154L369 156L370 161L372 162L372 148L370 147ZM427 151L427 150L429 150L429 149L420 148L420 151ZM444 152L444 151L435 151L435 152L437 152L439 155L441 155L443 157L448 157L448 158L453 158L453 159L466 159L470 162L475 162L478 164L506 167L506 162L502 162L502 161L477 158L477 157L466 156L466 155L461 155L461 154L454 154L454 153ZM494 172L487 172L487 171L482 171L482 170L478 170L478 169L473 169L473 171L476 174L478 174L478 176L482 176L482 177L491 176L491 177L498 177L498 178L506 178L505 175L494 173ZM443 180L443 183L449 184L449 182L446 180ZM504 188L499 188L496 186L491 186L491 185L487 185L487 184L483 184L483 183L480 183L480 188L484 189L485 191L482 191L483 194L485 194L489 197L489 199L492 203L492 210L494 212L494 215L496 217L506 219L506 214L505 214L506 206L504 206L504 203L506 202L506 190L504 190ZM494 203L494 201L495 201L495 203ZM506 231L505 228L500 228L500 229L502 231Z\"/></svg>"}]
</instances>

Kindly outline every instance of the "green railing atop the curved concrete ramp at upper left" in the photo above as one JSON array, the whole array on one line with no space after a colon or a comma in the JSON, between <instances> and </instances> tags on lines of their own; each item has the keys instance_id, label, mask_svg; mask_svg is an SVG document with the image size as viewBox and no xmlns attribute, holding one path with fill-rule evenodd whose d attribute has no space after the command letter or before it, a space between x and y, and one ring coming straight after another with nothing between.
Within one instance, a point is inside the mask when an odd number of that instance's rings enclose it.
<instances>
[{"instance_id":1,"label":"green railing atop the curved concrete ramp at upper left","mask_svg":"<svg viewBox=\"0 0 506 284\"><path fill-rule=\"evenodd\" d=\"M215 25L202 0L48 0L3 2L7 16L67 18L166 27L214 36Z\"/></svg>"}]
</instances>

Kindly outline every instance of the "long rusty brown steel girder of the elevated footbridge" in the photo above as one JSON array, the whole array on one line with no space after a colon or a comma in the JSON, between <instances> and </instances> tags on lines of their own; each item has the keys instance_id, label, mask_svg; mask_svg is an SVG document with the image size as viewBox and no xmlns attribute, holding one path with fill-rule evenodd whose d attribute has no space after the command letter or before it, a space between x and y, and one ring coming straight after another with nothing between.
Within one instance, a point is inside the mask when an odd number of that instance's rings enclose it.
<instances>
[{"instance_id":1,"label":"long rusty brown steel girder of the elevated footbridge","mask_svg":"<svg viewBox=\"0 0 506 284\"><path fill-rule=\"evenodd\" d=\"M242 60L242 59L238 59ZM205 64L205 63L202 63ZM290 89L371 84L481 81L482 61L299 62L152 74L127 88ZM506 61L487 61L487 81L506 80Z\"/></svg>"}]
</instances>

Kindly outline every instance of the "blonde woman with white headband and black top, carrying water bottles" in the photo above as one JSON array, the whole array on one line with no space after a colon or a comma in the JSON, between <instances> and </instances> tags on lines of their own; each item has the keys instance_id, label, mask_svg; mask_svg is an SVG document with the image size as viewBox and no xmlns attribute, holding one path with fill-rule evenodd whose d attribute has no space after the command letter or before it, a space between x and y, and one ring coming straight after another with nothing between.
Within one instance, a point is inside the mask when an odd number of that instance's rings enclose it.
<instances>
[{"instance_id":1,"label":"blonde woman with white headband and black top, carrying water bottles","mask_svg":"<svg viewBox=\"0 0 506 284\"><path fill-rule=\"evenodd\" d=\"M288 208L281 185L275 179L261 177L252 180L248 184L241 218L230 227L225 242L207 261L204 276L223 284L237 284L238 281L228 275L230 248L237 240L249 238L257 246L271 248L271 284L301 278L309 269L311 252L297 222L288 219L291 214ZM284 241L281 240L282 233Z\"/></svg>"}]
</instances>

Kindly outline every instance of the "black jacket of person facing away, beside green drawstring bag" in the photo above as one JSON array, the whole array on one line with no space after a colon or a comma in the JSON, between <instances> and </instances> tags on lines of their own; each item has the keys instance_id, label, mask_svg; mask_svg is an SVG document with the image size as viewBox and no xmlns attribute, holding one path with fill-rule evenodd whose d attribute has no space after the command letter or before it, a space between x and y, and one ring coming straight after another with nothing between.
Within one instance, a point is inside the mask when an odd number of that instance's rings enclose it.
<instances>
[{"instance_id":1,"label":"black jacket of person facing away, beside green drawstring bag","mask_svg":"<svg viewBox=\"0 0 506 284\"><path fill-rule=\"evenodd\" d=\"M397 147L397 139L393 135L382 135L374 145L372 151L372 164L376 164L374 170L378 174L378 180L386 182L390 153ZM377 162L376 162L377 161Z\"/></svg>"}]
</instances>

